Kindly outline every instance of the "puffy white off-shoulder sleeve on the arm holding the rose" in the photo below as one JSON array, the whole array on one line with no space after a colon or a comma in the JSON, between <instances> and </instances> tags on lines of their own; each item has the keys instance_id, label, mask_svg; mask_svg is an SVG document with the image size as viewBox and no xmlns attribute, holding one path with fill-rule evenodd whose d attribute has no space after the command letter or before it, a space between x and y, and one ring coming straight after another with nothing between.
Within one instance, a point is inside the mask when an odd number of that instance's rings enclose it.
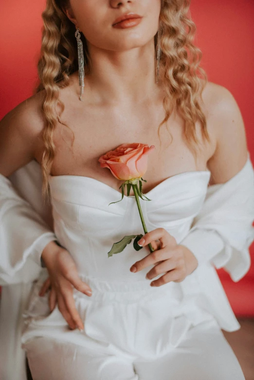
<instances>
[{"instance_id":1,"label":"puffy white off-shoulder sleeve on the arm holding the rose","mask_svg":"<svg viewBox=\"0 0 254 380\"><path fill-rule=\"evenodd\" d=\"M249 270L254 241L254 169L250 153L244 167L229 181L208 187L200 213L180 242L199 265L211 261L239 281Z\"/></svg>"}]
</instances>

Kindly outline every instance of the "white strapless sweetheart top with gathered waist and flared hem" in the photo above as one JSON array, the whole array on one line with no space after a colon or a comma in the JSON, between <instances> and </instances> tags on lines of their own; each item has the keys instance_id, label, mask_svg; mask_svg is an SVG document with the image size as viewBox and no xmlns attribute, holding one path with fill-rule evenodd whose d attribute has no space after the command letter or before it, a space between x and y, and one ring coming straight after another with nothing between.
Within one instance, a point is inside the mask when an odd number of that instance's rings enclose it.
<instances>
[{"instance_id":1,"label":"white strapless sweetheart top with gathered waist and flared hem","mask_svg":"<svg viewBox=\"0 0 254 380\"><path fill-rule=\"evenodd\" d=\"M180 173L148 191L145 195L151 201L140 199L147 231L163 227L180 243L200 212L210 174ZM49 336L91 350L105 347L149 359L179 345L191 326L216 319L198 276L201 266L179 283L151 287L152 280L145 275L153 265L138 273L129 271L148 254L145 248L136 251L131 242L123 252L108 258L114 242L125 235L144 234L134 196L125 195L121 202L109 205L122 194L98 180L76 175L50 176L49 180L55 235L73 256L92 295L74 289L84 331L70 330L57 306L50 312L48 295L38 296L47 277L44 269L23 315L23 344Z\"/></svg>"}]
</instances>

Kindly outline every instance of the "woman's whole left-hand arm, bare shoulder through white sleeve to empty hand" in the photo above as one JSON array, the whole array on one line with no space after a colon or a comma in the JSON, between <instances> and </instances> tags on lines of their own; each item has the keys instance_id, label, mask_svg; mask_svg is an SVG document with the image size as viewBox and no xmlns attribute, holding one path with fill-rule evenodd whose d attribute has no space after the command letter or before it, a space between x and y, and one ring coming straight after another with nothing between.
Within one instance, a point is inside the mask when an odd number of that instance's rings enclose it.
<instances>
[{"instance_id":1,"label":"woman's whole left-hand arm, bare shoulder through white sleeve to empty hand","mask_svg":"<svg viewBox=\"0 0 254 380\"><path fill-rule=\"evenodd\" d=\"M35 109L36 104L30 98L0 122L0 280L10 284L36 279L42 258L52 285L51 310L57 303L70 327L82 329L73 287L89 296L91 288L79 278L70 253L53 242L57 239L54 232L26 200L27 194L24 194L26 199L20 197L7 178L17 171L20 174L25 165L32 164L42 130L42 126L38 127ZM21 178L24 179L23 175ZM36 204L35 194L29 191Z\"/></svg>"}]
</instances>

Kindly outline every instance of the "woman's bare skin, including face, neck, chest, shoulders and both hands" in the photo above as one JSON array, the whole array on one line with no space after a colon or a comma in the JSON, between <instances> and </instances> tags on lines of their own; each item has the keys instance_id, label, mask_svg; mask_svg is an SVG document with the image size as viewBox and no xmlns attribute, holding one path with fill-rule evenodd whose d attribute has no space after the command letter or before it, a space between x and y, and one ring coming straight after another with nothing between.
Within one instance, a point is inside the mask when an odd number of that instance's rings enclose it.
<instances>
[{"instance_id":1,"label":"woman's bare skin, including face, neck, chest, shoulders and both hands","mask_svg":"<svg viewBox=\"0 0 254 380\"><path fill-rule=\"evenodd\" d=\"M115 18L127 12L143 16L142 22L129 29L113 28ZM71 0L66 15L87 38L92 69L85 78L84 102L79 101L77 72L71 76L70 86L59 91L59 98L65 104L61 120L72 128L75 142L72 148L69 129L57 124L52 175L89 176L120 192L122 182L100 168L98 158L120 144L135 141L156 147L149 155L144 193L178 173L209 169L212 185L225 183L243 168L248 149L241 112L231 92L212 82L207 83L202 93L211 141L203 142L197 165L184 143L184 123L177 113L167 121L173 142L170 144L170 135L163 126L160 149L157 130L164 117L164 92L155 83L153 42L159 27L159 13L160 0ZM41 163L44 123L40 104L38 93L18 104L0 122L2 175L9 176L33 159ZM198 123L197 133L200 136ZM132 189L129 195L133 195ZM149 280L166 272L154 281L155 286L180 282L196 269L198 262L193 253L177 244L164 228L149 231L144 239L147 256L133 265L138 272L154 264L147 273ZM148 243L154 252L150 253ZM75 262L64 248L50 242L42 258L49 279L41 295L51 286L51 310L57 303L70 328L83 329L73 300L73 287L87 295L91 288L78 277Z\"/></svg>"}]
</instances>

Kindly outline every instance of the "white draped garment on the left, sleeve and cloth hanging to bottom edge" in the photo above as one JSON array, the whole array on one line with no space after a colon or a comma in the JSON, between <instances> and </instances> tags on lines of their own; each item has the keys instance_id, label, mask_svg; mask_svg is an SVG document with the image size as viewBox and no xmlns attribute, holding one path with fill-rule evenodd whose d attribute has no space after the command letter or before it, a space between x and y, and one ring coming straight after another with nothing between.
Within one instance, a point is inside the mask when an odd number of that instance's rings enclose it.
<instances>
[{"instance_id":1,"label":"white draped garment on the left, sleeve and cloth hanging to bottom edge","mask_svg":"<svg viewBox=\"0 0 254 380\"><path fill-rule=\"evenodd\" d=\"M42 201L42 173L33 160L0 174L0 379L27 380L20 336L44 247L56 239L51 204ZM2 344L4 342L4 344ZM14 365L15 363L15 365Z\"/></svg>"}]
</instances>

